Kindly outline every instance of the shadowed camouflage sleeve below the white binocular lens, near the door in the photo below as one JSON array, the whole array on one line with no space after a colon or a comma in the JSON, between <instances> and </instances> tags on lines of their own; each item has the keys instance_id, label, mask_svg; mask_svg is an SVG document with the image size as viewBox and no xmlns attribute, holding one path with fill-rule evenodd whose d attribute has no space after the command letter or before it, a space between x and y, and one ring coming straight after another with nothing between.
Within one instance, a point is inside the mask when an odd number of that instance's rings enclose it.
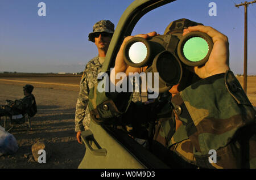
<instances>
[{"instance_id":1,"label":"shadowed camouflage sleeve below the white binocular lens, near the door","mask_svg":"<svg viewBox=\"0 0 256 180\"><path fill-rule=\"evenodd\" d=\"M127 125L135 119L140 119L140 122L146 121L147 116L142 115L148 114L146 109L141 102L133 102L138 100L137 96L134 98L133 93L127 92L99 92L97 87L103 81L104 79L94 84L89 93L88 107L93 122L104 125Z\"/></svg>"}]
</instances>

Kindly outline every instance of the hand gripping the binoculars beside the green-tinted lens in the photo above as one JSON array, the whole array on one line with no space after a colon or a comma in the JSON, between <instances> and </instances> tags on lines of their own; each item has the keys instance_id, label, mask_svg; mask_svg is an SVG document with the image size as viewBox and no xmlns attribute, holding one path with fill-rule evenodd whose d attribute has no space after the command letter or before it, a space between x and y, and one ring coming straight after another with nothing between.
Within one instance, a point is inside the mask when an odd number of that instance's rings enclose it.
<instances>
[{"instance_id":1,"label":"hand gripping the binoculars beside the green-tinted lens","mask_svg":"<svg viewBox=\"0 0 256 180\"><path fill-rule=\"evenodd\" d=\"M191 68L200 78L207 78L212 75L220 74L229 70L229 42L228 37L218 32L212 27L196 25L184 29L183 36L192 31L207 33L213 40L213 49L209 59L204 66Z\"/></svg>"}]
</instances>

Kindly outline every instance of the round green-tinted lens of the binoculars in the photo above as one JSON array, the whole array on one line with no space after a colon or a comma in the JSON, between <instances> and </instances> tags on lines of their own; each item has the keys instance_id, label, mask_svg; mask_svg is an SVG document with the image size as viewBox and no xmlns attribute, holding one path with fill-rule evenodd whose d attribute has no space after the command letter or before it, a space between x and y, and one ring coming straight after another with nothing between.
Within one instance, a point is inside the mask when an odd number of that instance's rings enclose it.
<instances>
[{"instance_id":1,"label":"round green-tinted lens of the binoculars","mask_svg":"<svg viewBox=\"0 0 256 180\"><path fill-rule=\"evenodd\" d=\"M209 46L207 41L201 37L192 37L185 42L183 47L183 54L189 61L197 62L204 59L208 54Z\"/></svg>"}]
</instances>

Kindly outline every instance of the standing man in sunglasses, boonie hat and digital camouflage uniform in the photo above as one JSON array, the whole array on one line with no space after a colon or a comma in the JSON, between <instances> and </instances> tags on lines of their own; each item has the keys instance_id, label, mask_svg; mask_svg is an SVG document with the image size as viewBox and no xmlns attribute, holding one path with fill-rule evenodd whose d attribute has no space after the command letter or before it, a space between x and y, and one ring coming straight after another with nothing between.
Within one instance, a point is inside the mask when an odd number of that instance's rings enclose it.
<instances>
[{"instance_id":1,"label":"standing man in sunglasses, boonie hat and digital camouflage uniform","mask_svg":"<svg viewBox=\"0 0 256 180\"><path fill-rule=\"evenodd\" d=\"M109 20L100 20L93 25L93 32L89 33L88 36L89 41L94 42L97 46L98 55L87 63L80 82L75 117L75 131L79 143L81 143L81 131L87 130L90 123L90 114L87 107L89 89L97 82L97 76L101 72L113 33L114 24Z\"/></svg>"}]
</instances>

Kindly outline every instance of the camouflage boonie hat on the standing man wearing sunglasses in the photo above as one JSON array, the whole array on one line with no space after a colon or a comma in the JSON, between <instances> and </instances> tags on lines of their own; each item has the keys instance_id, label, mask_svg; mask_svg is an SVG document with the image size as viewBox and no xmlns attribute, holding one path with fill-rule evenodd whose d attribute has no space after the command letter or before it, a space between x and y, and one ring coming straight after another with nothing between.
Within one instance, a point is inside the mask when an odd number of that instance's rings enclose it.
<instances>
[{"instance_id":1,"label":"camouflage boonie hat on the standing man wearing sunglasses","mask_svg":"<svg viewBox=\"0 0 256 180\"><path fill-rule=\"evenodd\" d=\"M110 22L110 20L100 20L99 22L95 23L93 25L93 32L89 33L88 37L89 37L89 41L94 42L94 33L97 32L106 32L106 33L110 33L113 34L114 33L114 28L115 25Z\"/></svg>"}]
</instances>

